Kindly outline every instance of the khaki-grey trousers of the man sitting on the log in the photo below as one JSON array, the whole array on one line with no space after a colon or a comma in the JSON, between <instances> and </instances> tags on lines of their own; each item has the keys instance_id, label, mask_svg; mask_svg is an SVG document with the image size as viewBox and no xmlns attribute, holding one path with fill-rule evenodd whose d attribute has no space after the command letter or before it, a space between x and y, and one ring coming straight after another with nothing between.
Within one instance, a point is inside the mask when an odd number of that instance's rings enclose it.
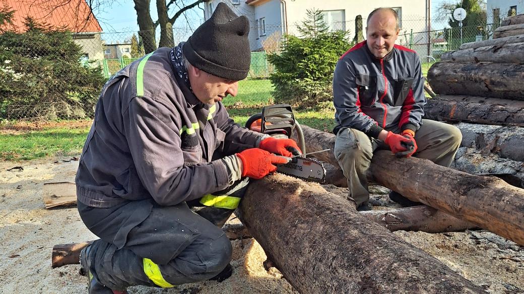
<instances>
[{"instance_id":1,"label":"khaki-grey trousers of the man sitting on the log","mask_svg":"<svg viewBox=\"0 0 524 294\"><path fill-rule=\"evenodd\" d=\"M399 129L390 131L400 133ZM429 159L438 165L449 167L459 149L462 133L446 123L423 119L414 139L418 146L414 157ZM389 146L352 128L342 128L336 135L335 158L347 178L350 189L348 197L354 200L356 207L369 200L366 174L377 149L389 150Z\"/></svg>"}]
</instances>

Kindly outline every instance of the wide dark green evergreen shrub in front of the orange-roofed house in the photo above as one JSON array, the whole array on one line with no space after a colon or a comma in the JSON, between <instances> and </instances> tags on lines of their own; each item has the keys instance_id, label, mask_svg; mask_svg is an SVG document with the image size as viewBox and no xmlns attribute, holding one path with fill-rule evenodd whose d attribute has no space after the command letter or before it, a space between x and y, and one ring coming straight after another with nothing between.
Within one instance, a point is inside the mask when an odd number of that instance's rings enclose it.
<instances>
[{"instance_id":1,"label":"wide dark green evergreen shrub in front of the orange-roofed house","mask_svg":"<svg viewBox=\"0 0 524 294\"><path fill-rule=\"evenodd\" d=\"M71 32L25 20L27 30L0 35L0 118L91 117L105 78Z\"/></svg>"}]
</instances>

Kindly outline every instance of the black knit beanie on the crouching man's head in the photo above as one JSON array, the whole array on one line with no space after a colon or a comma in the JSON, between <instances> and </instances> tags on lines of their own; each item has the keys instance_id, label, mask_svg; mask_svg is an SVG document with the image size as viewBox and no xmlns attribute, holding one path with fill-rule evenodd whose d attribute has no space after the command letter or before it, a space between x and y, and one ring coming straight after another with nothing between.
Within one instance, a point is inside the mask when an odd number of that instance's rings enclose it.
<instances>
[{"instance_id":1,"label":"black knit beanie on the crouching man's head","mask_svg":"<svg viewBox=\"0 0 524 294\"><path fill-rule=\"evenodd\" d=\"M237 16L225 3L219 3L208 20L196 28L182 51L196 68L227 80L247 77L251 53L249 20Z\"/></svg>"}]
</instances>

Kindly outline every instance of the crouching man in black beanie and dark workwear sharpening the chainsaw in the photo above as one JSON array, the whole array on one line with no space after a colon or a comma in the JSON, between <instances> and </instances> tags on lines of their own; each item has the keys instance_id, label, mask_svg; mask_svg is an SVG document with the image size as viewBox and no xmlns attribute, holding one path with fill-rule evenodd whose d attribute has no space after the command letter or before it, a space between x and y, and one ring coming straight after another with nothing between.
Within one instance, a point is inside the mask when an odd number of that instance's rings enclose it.
<instances>
[{"instance_id":1,"label":"crouching man in black beanie and dark workwear sharpening the chainsaw","mask_svg":"<svg viewBox=\"0 0 524 294\"><path fill-rule=\"evenodd\" d=\"M288 161L271 153L299 152L291 139L240 127L221 103L249 71L248 32L247 18L221 3L187 42L104 85L76 178L80 216L101 238L81 252L90 293L231 275L219 227L238 206L242 178Z\"/></svg>"}]
</instances>

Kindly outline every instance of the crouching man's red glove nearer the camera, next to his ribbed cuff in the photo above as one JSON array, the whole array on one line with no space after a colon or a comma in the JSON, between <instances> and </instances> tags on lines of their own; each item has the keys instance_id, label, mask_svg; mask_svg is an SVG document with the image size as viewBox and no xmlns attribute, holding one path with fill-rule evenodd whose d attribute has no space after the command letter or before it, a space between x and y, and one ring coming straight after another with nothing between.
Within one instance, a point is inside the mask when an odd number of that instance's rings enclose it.
<instances>
[{"instance_id":1,"label":"crouching man's red glove nearer the camera, next to his ribbed cuff","mask_svg":"<svg viewBox=\"0 0 524 294\"><path fill-rule=\"evenodd\" d=\"M261 179L269 173L275 172L277 167L274 164L288 163L288 159L271 154L259 148L246 149L236 156L242 161L244 169L243 177Z\"/></svg>"}]
</instances>

